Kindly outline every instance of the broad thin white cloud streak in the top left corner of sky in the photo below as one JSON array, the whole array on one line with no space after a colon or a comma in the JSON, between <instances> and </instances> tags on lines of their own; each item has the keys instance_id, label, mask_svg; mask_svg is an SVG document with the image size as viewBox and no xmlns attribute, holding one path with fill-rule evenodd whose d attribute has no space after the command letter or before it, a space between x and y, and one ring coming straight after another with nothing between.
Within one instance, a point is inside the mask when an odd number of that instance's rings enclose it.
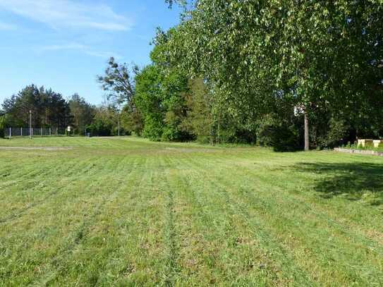
<instances>
[{"instance_id":1,"label":"broad thin white cloud streak in the top left corner of sky","mask_svg":"<svg viewBox=\"0 0 383 287\"><path fill-rule=\"evenodd\" d=\"M104 4L80 4L73 0L0 0L0 10L11 11L51 28L87 28L126 31L133 21Z\"/></svg>"}]
</instances>

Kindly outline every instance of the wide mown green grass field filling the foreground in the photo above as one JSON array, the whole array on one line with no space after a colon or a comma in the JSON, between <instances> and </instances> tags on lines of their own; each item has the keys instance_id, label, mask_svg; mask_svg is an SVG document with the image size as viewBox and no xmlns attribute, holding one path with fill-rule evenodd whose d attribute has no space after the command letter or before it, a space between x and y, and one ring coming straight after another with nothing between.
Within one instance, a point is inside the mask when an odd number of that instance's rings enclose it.
<instances>
[{"instance_id":1,"label":"wide mown green grass field filling the foreground","mask_svg":"<svg viewBox=\"0 0 383 287\"><path fill-rule=\"evenodd\" d=\"M0 140L0 195L1 286L383 285L380 157Z\"/></svg>"}]
</instances>

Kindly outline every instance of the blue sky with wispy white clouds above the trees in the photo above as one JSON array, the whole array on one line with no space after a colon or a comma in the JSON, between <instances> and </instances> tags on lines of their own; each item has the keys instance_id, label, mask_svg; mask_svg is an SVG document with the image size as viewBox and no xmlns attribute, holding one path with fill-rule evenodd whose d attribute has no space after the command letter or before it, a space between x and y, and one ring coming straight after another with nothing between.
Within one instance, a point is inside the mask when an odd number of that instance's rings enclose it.
<instances>
[{"instance_id":1,"label":"blue sky with wispy white clouds above the trees","mask_svg":"<svg viewBox=\"0 0 383 287\"><path fill-rule=\"evenodd\" d=\"M0 103L34 83L100 104L109 56L143 66L155 28L177 23L164 0L0 0Z\"/></svg>"}]
</instances>

